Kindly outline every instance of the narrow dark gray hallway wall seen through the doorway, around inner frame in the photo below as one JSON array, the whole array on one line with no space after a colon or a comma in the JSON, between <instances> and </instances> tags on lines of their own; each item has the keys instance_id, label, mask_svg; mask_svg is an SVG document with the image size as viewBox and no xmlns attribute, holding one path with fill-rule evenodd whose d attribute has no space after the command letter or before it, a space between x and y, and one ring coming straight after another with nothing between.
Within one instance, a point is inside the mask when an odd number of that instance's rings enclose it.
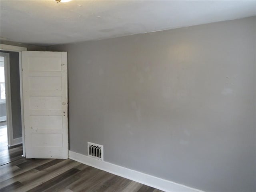
<instances>
[{"instance_id":1,"label":"narrow dark gray hallway wall seen through the doorway, around inner frame","mask_svg":"<svg viewBox=\"0 0 256 192\"><path fill-rule=\"evenodd\" d=\"M11 103L12 103L12 129L13 138L22 137L21 109L20 109L20 66L19 53L1 51L9 53L10 56L10 82L11 82Z\"/></svg>"}]
</instances>

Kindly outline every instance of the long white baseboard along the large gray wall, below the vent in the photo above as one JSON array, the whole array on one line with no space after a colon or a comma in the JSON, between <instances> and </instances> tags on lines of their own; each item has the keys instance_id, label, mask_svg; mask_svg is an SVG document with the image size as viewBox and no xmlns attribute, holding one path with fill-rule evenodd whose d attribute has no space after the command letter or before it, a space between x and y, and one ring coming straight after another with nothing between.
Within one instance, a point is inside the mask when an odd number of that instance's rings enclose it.
<instances>
[{"instance_id":1,"label":"long white baseboard along the large gray wall, below the vent","mask_svg":"<svg viewBox=\"0 0 256 192\"><path fill-rule=\"evenodd\" d=\"M100 161L90 158L86 155L69 151L69 158L80 163L104 170L106 172L166 191L166 192L202 192L202 190L194 189L172 181L164 180L152 175L144 174L135 170L131 170L122 166L118 166L109 162Z\"/></svg>"}]
</instances>

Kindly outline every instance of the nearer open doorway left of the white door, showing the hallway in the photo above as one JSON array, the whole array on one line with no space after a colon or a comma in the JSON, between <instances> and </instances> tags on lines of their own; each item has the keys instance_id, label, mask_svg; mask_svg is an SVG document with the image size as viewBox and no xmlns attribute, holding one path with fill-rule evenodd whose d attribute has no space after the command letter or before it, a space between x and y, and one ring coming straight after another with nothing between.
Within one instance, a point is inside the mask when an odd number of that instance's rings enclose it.
<instances>
[{"instance_id":1,"label":"nearer open doorway left of the white door, showing the hallway","mask_svg":"<svg viewBox=\"0 0 256 192\"><path fill-rule=\"evenodd\" d=\"M1 165L22 157L19 52L0 51Z\"/></svg>"}]
</instances>

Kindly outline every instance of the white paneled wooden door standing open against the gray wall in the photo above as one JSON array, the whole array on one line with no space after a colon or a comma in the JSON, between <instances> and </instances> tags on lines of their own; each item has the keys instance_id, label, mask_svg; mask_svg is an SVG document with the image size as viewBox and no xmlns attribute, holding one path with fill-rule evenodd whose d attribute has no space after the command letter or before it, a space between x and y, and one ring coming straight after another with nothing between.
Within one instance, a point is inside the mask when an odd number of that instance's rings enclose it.
<instances>
[{"instance_id":1,"label":"white paneled wooden door standing open against the gray wall","mask_svg":"<svg viewBox=\"0 0 256 192\"><path fill-rule=\"evenodd\" d=\"M26 158L68 158L67 52L22 51Z\"/></svg>"}]
</instances>

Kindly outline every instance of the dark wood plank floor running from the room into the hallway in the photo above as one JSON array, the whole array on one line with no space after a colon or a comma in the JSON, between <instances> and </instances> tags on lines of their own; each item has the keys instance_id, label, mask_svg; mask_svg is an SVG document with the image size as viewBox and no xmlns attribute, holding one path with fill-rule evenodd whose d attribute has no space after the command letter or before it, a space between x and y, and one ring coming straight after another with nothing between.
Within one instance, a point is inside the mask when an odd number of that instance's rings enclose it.
<instances>
[{"instance_id":1,"label":"dark wood plank floor running from the room into the hallway","mask_svg":"<svg viewBox=\"0 0 256 192\"><path fill-rule=\"evenodd\" d=\"M70 159L15 159L19 150L1 165L1 192L161 192Z\"/></svg>"}]
</instances>

